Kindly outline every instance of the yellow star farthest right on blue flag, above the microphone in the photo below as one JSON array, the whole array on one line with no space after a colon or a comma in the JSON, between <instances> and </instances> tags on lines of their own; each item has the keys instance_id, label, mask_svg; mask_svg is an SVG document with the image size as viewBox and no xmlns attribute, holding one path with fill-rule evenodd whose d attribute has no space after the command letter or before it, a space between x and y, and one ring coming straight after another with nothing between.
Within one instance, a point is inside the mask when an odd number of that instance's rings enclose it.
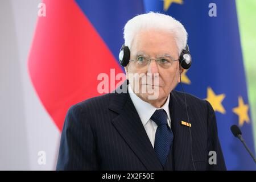
<instances>
[{"instance_id":1,"label":"yellow star farthest right on blue flag, above the microphone","mask_svg":"<svg viewBox=\"0 0 256 182\"><path fill-rule=\"evenodd\" d=\"M238 106L233 108L233 112L236 113L239 117L239 126L243 126L243 123L249 123L249 115L248 115L249 105L243 102L243 98L241 96L238 97Z\"/></svg>"}]
</instances>

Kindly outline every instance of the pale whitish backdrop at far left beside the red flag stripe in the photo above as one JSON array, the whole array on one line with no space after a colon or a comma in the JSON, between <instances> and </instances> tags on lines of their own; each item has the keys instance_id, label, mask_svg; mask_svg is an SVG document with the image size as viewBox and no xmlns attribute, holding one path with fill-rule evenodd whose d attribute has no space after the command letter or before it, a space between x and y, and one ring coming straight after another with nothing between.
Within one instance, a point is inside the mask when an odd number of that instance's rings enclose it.
<instances>
[{"instance_id":1,"label":"pale whitish backdrop at far left beside the red flag stripe","mask_svg":"<svg viewBox=\"0 0 256 182\"><path fill-rule=\"evenodd\" d=\"M60 131L30 81L39 0L0 0L0 170L53 170ZM46 152L46 165L38 152Z\"/></svg>"}]
</instances>

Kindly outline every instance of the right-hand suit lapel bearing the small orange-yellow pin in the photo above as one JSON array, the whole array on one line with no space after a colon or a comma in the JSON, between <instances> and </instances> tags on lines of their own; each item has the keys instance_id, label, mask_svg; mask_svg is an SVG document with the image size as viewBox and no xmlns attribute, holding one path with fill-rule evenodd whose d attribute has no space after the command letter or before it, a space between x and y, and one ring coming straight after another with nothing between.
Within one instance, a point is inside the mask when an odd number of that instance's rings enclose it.
<instances>
[{"instance_id":1,"label":"right-hand suit lapel bearing the small orange-yellow pin","mask_svg":"<svg viewBox=\"0 0 256 182\"><path fill-rule=\"evenodd\" d=\"M188 119L183 99L180 98L175 90L171 92L169 108L171 114L172 131L174 133L174 169L188 170L189 163L191 162L189 127L181 125L180 123L181 120L188 122Z\"/></svg>"}]
</instances>

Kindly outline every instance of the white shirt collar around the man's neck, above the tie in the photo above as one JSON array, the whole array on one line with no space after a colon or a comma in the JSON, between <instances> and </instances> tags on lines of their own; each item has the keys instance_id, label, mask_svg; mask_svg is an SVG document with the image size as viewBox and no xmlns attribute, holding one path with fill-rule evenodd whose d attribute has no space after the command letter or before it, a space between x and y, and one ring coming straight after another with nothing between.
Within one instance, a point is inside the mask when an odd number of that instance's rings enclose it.
<instances>
[{"instance_id":1,"label":"white shirt collar around the man's neck, above the tie","mask_svg":"<svg viewBox=\"0 0 256 182\"><path fill-rule=\"evenodd\" d=\"M156 109L164 109L167 113L167 117L169 121L171 121L170 118L170 111L169 111L169 101L170 101L170 94L167 97L166 103L161 108L156 108L149 104L148 102L145 102L141 100L134 92L133 89L131 89L130 84L128 85L128 92L131 98L131 101L133 101L133 104L135 106L135 109L137 110L137 113L139 114L139 117L141 118L143 126L147 124L151 116L155 113Z\"/></svg>"}]
</instances>

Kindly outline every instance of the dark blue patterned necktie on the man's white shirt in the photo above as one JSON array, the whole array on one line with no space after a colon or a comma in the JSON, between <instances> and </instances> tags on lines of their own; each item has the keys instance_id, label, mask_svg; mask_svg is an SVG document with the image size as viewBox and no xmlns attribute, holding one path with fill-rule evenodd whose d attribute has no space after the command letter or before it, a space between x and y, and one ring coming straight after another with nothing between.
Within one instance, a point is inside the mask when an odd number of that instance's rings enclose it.
<instances>
[{"instance_id":1,"label":"dark blue patterned necktie on the man's white shirt","mask_svg":"<svg viewBox=\"0 0 256 182\"><path fill-rule=\"evenodd\" d=\"M163 109L156 110L151 119L158 125L155 133L154 150L162 165L166 163L167 156L174 140L174 134L168 126L167 114Z\"/></svg>"}]
</instances>

